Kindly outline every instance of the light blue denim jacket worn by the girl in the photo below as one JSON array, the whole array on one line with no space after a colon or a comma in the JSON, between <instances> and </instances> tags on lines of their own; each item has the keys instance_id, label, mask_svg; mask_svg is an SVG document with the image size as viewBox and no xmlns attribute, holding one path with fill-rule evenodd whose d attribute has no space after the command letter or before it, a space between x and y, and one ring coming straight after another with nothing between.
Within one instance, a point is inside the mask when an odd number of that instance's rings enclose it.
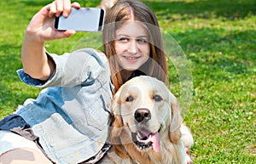
<instances>
[{"instance_id":1,"label":"light blue denim jacket worn by the girl","mask_svg":"<svg viewBox=\"0 0 256 164\"><path fill-rule=\"evenodd\" d=\"M32 127L52 161L79 163L95 156L108 137L113 88L108 59L91 48L48 55L56 65L48 81L17 71L21 81L44 89L15 114Z\"/></svg>"}]
</instances>

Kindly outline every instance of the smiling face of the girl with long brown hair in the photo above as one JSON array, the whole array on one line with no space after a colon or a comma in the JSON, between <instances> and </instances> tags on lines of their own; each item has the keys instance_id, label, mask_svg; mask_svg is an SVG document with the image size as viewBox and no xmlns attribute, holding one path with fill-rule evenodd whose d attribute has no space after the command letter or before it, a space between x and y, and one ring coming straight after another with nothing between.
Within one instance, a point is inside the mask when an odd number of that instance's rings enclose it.
<instances>
[{"instance_id":1,"label":"smiling face of the girl with long brown hair","mask_svg":"<svg viewBox=\"0 0 256 164\"><path fill-rule=\"evenodd\" d=\"M148 60L148 39L148 32L136 21L127 21L116 31L114 48L121 68L135 71Z\"/></svg>"}]
</instances>

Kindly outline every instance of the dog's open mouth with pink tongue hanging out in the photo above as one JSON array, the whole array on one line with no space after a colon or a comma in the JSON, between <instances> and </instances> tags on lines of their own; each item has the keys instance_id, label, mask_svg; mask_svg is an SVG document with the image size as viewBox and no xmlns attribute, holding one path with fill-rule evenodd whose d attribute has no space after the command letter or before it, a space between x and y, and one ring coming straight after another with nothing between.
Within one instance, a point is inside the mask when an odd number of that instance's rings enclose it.
<instances>
[{"instance_id":1,"label":"dog's open mouth with pink tongue hanging out","mask_svg":"<svg viewBox=\"0 0 256 164\"><path fill-rule=\"evenodd\" d=\"M140 130L137 133L131 133L132 141L136 144L138 150L148 151L153 149L155 152L159 152L159 132L160 130L157 133L148 133L146 130Z\"/></svg>"}]
</instances>

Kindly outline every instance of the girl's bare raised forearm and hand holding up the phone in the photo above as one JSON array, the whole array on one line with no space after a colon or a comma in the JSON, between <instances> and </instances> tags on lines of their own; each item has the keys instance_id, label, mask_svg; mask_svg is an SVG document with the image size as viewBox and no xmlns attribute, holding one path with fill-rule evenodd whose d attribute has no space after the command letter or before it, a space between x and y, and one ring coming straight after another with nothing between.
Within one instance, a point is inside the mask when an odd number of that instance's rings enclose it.
<instances>
[{"instance_id":1,"label":"girl's bare raised forearm and hand holding up the phone","mask_svg":"<svg viewBox=\"0 0 256 164\"><path fill-rule=\"evenodd\" d=\"M21 61L24 71L40 80L47 80L55 69L54 62L49 59L44 49L44 42L72 36L75 31L56 31L55 16L68 16L71 7L80 8L79 3L70 0L55 0L44 6L35 14L26 28Z\"/></svg>"}]
</instances>

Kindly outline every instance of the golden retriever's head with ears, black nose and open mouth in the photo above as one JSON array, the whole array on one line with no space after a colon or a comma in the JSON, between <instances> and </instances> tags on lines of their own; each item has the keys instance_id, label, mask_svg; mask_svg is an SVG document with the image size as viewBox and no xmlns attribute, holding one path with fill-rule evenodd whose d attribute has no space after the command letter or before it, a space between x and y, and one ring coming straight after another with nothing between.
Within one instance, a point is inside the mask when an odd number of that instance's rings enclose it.
<instances>
[{"instance_id":1,"label":"golden retriever's head with ears, black nose and open mouth","mask_svg":"<svg viewBox=\"0 0 256 164\"><path fill-rule=\"evenodd\" d=\"M119 156L130 154L129 150L158 152L161 142L176 144L181 137L177 99L154 77L137 76L125 82L114 95L112 107L110 136Z\"/></svg>"}]
</instances>

